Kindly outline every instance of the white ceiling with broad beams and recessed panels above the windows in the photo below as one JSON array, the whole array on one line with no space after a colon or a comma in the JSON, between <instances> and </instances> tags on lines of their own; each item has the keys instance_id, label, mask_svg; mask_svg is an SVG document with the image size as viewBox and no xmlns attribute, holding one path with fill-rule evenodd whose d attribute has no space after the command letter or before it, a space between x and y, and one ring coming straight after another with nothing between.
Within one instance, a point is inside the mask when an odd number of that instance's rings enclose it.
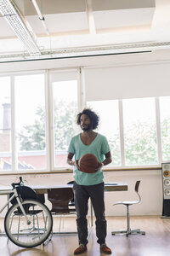
<instances>
[{"instance_id":1,"label":"white ceiling with broad beams and recessed panels above the windows","mask_svg":"<svg viewBox=\"0 0 170 256\"><path fill-rule=\"evenodd\" d=\"M16 14L4 15L4 2L12 3L33 51L9 25ZM170 48L169 14L170 0L0 0L0 61Z\"/></svg>"}]
</instances>

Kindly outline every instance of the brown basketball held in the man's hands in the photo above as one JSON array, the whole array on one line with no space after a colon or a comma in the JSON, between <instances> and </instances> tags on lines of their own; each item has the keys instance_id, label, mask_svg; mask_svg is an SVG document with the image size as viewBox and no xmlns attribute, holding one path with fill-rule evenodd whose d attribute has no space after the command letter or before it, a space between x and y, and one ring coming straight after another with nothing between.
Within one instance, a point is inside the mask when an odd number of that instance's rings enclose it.
<instances>
[{"instance_id":1,"label":"brown basketball held in the man's hands","mask_svg":"<svg viewBox=\"0 0 170 256\"><path fill-rule=\"evenodd\" d=\"M97 172L96 169L99 167L99 161L94 154L83 154L78 161L80 170L82 172L94 173Z\"/></svg>"}]
</instances>

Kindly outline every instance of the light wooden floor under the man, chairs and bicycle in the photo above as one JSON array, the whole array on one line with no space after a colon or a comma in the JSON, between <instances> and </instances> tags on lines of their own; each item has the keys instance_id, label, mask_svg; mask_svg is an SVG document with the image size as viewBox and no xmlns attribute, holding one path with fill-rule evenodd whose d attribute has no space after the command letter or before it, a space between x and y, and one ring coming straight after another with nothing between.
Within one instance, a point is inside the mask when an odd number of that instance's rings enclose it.
<instances>
[{"instance_id":1,"label":"light wooden floor under the man, chairs and bicycle","mask_svg":"<svg viewBox=\"0 0 170 256\"><path fill-rule=\"evenodd\" d=\"M131 217L131 229L140 228L145 236L111 236L112 230L126 228L126 218L107 218L108 236L106 242L115 256L169 256L170 255L170 218L160 216ZM2 225L1 225L2 226ZM55 224L56 228L56 224ZM65 218L61 230L76 230L75 218ZM92 228L88 240L88 252L82 256L103 255L99 253L96 242L95 227ZM0 255L2 256L71 256L77 247L77 235L53 236L45 247L26 249L15 246L6 237L0 237Z\"/></svg>"}]
</instances>

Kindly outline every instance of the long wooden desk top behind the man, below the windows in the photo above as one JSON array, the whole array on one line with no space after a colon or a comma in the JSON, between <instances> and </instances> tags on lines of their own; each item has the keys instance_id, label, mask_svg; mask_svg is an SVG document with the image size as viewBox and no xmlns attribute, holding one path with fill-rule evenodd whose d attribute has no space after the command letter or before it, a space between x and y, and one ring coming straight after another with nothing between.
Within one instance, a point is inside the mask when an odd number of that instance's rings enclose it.
<instances>
[{"instance_id":1,"label":"long wooden desk top behind the man, below the windows","mask_svg":"<svg viewBox=\"0 0 170 256\"><path fill-rule=\"evenodd\" d=\"M47 194L48 189L58 188L72 188L72 184L57 184L57 185L28 185L34 189L37 194ZM0 195L8 195L11 190L11 186L0 186ZM3 191L2 191L3 190ZM127 191L127 183L105 183L105 191Z\"/></svg>"}]
</instances>

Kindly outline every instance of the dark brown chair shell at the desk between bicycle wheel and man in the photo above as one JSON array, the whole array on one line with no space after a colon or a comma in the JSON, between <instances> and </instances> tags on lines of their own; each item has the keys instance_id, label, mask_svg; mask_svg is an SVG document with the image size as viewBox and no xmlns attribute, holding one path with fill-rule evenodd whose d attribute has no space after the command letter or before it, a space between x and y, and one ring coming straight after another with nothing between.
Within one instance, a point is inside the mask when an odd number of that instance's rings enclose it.
<instances>
[{"instance_id":1,"label":"dark brown chair shell at the desk between bicycle wheel and man","mask_svg":"<svg viewBox=\"0 0 170 256\"><path fill-rule=\"evenodd\" d=\"M73 209L69 209L68 204L74 198L72 188L48 189L48 201L52 203L50 212L69 213Z\"/></svg>"}]
</instances>

